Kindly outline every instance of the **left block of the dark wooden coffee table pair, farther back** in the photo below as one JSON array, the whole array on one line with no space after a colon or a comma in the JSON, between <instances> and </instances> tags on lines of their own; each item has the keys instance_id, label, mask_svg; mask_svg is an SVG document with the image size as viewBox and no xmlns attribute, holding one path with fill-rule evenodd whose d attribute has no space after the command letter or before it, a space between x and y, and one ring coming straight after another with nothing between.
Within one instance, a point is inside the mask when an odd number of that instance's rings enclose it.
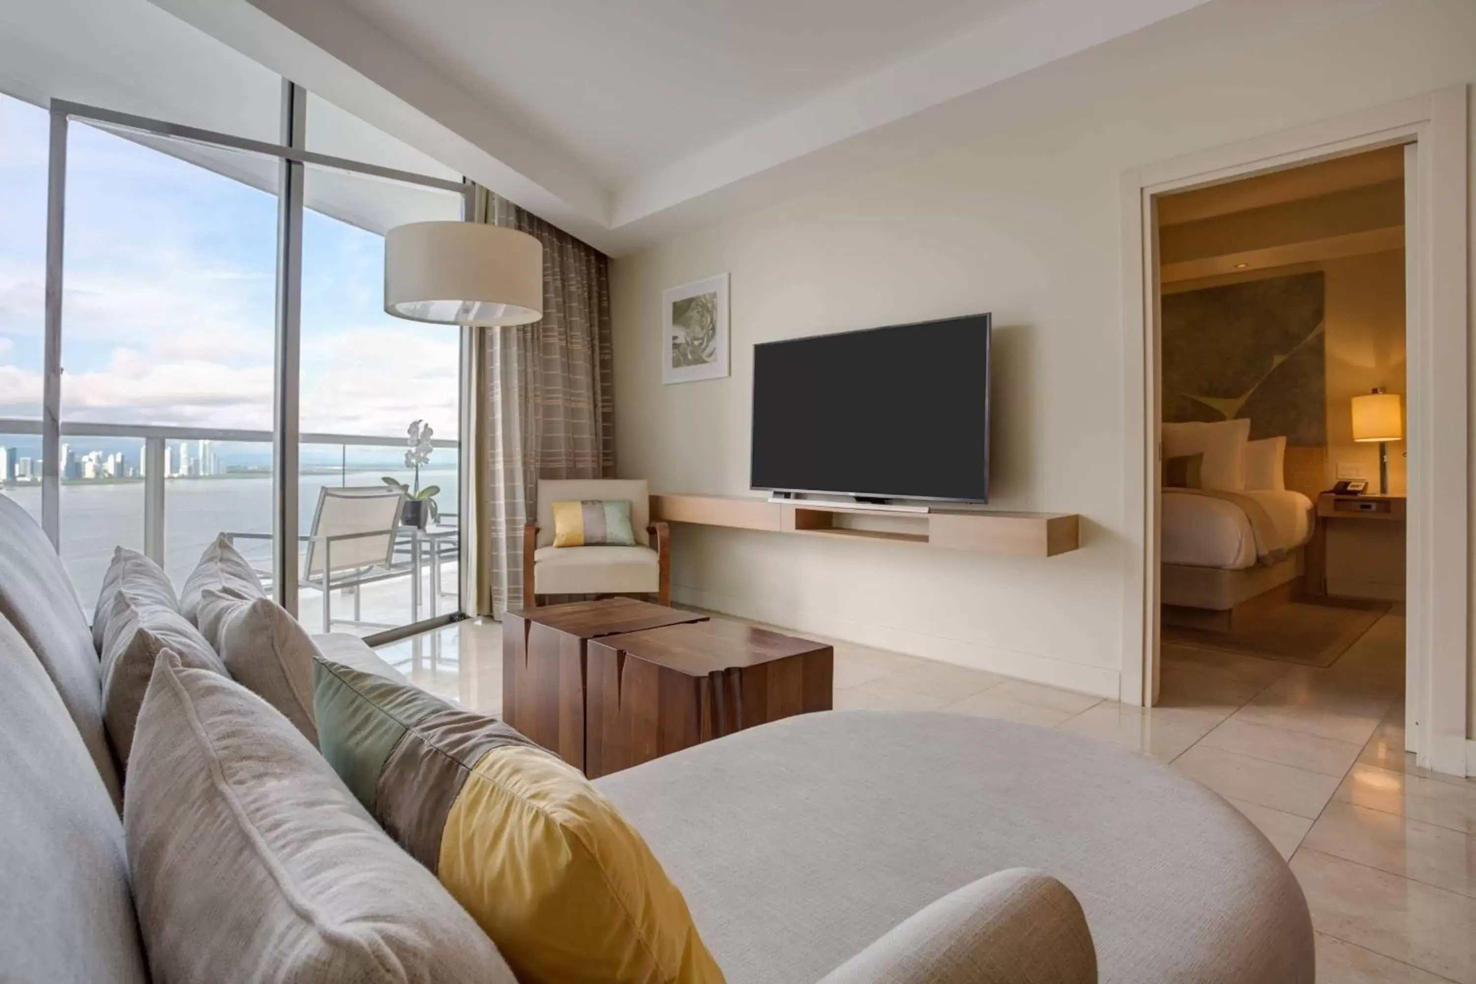
<instances>
[{"instance_id":1,"label":"left block of the dark wooden coffee table pair, farther back","mask_svg":"<svg viewBox=\"0 0 1476 984\"><path fill-rule=\"evenodd\" d=\"M559 758L584 767L584 648L590 639L703 621L632 597L570 602L502 617L502 717Z\"/></svg>"}]
</instances>

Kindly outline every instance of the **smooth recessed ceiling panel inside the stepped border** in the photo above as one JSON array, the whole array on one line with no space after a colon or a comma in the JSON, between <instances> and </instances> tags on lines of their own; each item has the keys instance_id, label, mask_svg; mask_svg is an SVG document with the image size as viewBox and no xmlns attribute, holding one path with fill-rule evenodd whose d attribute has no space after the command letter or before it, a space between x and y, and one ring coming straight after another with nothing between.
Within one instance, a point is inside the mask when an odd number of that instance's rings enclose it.
<instances>
[{"instance_id":1,"label":"smooth recessed ceiling panel inside the stepped border","mask_svg":"<svg viewBox=\"0 0 1476 984\"><path fill-rule=\"evenodd\" d=\"M607 187L1029 0L347 0Z\"/></svg>"}]
</instances>

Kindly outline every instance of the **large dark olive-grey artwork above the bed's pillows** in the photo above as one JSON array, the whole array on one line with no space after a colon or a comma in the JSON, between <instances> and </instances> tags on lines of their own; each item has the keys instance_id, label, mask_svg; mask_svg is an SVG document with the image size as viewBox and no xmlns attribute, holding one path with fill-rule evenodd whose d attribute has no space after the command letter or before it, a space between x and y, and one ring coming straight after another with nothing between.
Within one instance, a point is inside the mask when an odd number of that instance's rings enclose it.
<instances>
[{"instance_id":1,"label":"large dark olive-grey artwork above the bed's pillows","mask_svg":"<svg viewBox=\"0 0 1476 984\"><path fill-rule=\"evenodd\" d=\"M1163 295L1163 419L1250 417L1250 437L1327 443L1321 273Z\"/></svg>"}]
</instances>

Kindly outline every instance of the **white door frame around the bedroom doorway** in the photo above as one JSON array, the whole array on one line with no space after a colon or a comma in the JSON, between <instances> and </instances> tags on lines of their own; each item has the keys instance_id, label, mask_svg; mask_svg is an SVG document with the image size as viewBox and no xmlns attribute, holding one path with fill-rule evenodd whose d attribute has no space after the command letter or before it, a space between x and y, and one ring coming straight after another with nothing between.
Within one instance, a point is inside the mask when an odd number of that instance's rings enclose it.
<instances>
[{"instance_id":1,"label":"white door frame around the bedroom doorway","mask_svg":"<svg viewBox=\"0 0 1476 984\"><path fill-rule=\"evenodd\" d=\"M1470 652L1470 249L1466 86L1377 106L1122 176L1125 332L1123 704L1151 705L1159 676L1159 263L1156 198L1384 146L1415 145L1405 285L1407 665L1417 763L1464 776Z\"/></svg>"}]
</instances>

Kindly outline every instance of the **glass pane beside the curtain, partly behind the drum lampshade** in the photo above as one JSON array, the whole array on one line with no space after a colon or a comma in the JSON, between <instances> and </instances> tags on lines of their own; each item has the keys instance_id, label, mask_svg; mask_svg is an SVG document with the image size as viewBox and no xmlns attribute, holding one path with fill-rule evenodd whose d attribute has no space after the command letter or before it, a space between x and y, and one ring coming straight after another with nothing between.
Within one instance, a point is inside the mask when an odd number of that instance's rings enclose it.
<instances>
[{"instance_id":1,"label":"glass pane beside the curtain, partly behind the drum lampshade","mask_svg":"<svg viewBox=\"0 0 1476 984\"><path fill-rule=\"evenodd\" d=\"M311 122L308 115L310 130ZM385 546L378 558L368 549L357 553L350 541L332 547L334 556L345 558L328 565L334 580L357 583L342 590L329 586L334 628L372 633L458 608L461 333L384 313L384 232L406 221L458 220L462 199L313 167L306 186L303 533L331 537L345 528L347 493L335 490L372 497L403 487L424 502L413 509L427 512L424 524L404 513L400 522L381 518L393 528L393 541L375 541ZM428 426L431 437L407 462L415 423ZM387 507L393 510L393 503ZM304 559L304 580L320 586L323 567ZM314 628L323 624L322 599L322 587L300 595L303 620Z\"/></svg>"}]
</instances>

